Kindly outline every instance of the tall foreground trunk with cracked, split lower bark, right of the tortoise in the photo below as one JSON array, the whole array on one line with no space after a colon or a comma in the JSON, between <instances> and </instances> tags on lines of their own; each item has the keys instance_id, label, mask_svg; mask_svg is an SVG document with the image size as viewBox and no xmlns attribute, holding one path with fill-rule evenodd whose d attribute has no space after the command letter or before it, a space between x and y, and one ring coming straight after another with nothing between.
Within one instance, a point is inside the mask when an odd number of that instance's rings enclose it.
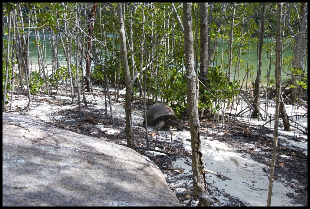
<instances>
[{"instance_id":1,"label":"tall foreground trunk with cracked, split lower bark, right of the tortoise","mask_svg":"<svg viewBox=\"0 0 310 209\"><path fill-rule=\"evenodd\" d=\"M198 98L199 83L194 69L194 47L192 26L192 3L183 3L185 69L188 88L188 115L192 141L192 168L194 195L199 200L199 206L210 206L209 193L205 180L205 163L201 153L199 133Z\"/></svg>"}]
</instances>

